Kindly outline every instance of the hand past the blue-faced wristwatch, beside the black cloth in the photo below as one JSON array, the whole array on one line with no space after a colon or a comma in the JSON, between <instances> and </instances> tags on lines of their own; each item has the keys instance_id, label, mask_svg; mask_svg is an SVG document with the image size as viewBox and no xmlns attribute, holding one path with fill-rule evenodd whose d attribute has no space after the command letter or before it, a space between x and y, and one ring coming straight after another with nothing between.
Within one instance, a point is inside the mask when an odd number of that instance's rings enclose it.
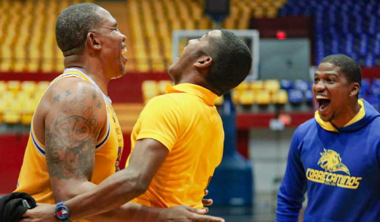
<instances>
[{"instance_id":1,"label":"hand past the blue-faced wristwatch, beside the black cloth","mask_svg":"<svg viewBox=\"0 0 380 222\"><path fill-rule=\"evenodd\" d=\"M39 203L33 209L27 210L21 222L57 222L57 217L54 216L55 205Z\"/></svg>"}]
</instances>

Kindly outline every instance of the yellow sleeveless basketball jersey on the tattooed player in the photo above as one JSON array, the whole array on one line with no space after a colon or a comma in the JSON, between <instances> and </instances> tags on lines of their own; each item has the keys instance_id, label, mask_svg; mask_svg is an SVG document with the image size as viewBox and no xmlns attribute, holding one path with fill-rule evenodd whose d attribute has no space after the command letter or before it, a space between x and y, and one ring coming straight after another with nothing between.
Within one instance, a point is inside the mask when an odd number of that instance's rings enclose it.
<instances>
[{"instance_id":1,"label":"yellow sleeveless basketball jersey on the tattooed player","mask_svg":"<svg viewBox=\"0 0 380 222\"><path fill-rule=\"evenodd\" d=\"M49 87L57 81L69 77L88 81L101 92L99 87L89 76L82 73L80 70L73 68L66 69L62 75L58 76L50 83ZM119 166L124 145L121 127L115 111L111 106L111 101L103 94L103 92L101 92L101 94L103 95L103 100L106 104L107 130L104 136L97 141L96 145L95 168L91 178L91 182L94 184L99 184L105 178L115 173L116 167ZM34 134L33 119L15 192L26 192L30 194L37 203L54 204L54 197L50 187L49 173L45 158L45 145L42 144Z\"/></svg>"}]
</instances>

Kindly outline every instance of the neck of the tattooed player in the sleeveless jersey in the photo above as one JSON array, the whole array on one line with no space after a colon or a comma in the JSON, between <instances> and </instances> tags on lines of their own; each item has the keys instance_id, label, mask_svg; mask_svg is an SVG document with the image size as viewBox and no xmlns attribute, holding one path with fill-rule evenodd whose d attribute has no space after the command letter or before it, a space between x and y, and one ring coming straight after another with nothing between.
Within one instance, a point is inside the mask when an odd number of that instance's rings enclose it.
<instances>
[{"instance_id":1,"label":"neck of the tattooed player in the sleeveless jersey","mask_svg":"<svg viewBox=\"0 0 380 222\"><path fill-rule=\"evenodd\" d=\"M86 75L94 80L96 85L100 90L108 95L108 83L110 81L107 78L106 72L102 69L102 65L99 61L94 61L93 59L85 59L81 55L69 55L64 59L65 68L81 68L84 70Z\"/></svg>"}]
</instances>

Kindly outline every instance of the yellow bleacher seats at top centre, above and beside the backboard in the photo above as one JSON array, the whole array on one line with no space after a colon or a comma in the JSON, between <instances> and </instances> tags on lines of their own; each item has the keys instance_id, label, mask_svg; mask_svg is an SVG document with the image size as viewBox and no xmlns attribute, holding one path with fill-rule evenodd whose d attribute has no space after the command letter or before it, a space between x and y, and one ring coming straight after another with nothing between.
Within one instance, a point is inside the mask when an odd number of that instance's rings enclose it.
<instances>
[{"instance_id":1,"label":"yellow bleacher seats at top centre, above and beside the backboard","mask_svg":"<svg viewBox=\"0 0 380 222\"><path fill-rule=\"evenodd\" d=\"M230 16L221 24L226 29L247 29L251 16L275 17L285 0L231 1ZM164 71L172 59L172 31L213 29L203 15L204 1L128 0L128 20L138 71ZM180 42L184 47L187 39ZM179 50L182 51L182 50Z\"/></svg>"}]
</instances>

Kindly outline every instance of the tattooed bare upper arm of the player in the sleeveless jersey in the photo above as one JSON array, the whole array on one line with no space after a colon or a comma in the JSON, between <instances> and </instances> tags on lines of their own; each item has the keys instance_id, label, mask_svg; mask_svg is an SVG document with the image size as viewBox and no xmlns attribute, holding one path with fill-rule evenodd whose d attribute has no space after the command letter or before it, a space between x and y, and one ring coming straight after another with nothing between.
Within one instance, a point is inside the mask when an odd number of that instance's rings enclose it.
<instances>
[{"instance_id":1,"label":"tattooed bare upper arm of the player in the sleeveless jersey","mask_svg":"<svg viewBox=\"0 0 380 222\"><path fill-rule=\"evenodd\" d=\"M106 125L101 94L88 82L61 80L44 96L46 161L56 202L87 191L97 138Z\"/></svg>"}]
</instances>

